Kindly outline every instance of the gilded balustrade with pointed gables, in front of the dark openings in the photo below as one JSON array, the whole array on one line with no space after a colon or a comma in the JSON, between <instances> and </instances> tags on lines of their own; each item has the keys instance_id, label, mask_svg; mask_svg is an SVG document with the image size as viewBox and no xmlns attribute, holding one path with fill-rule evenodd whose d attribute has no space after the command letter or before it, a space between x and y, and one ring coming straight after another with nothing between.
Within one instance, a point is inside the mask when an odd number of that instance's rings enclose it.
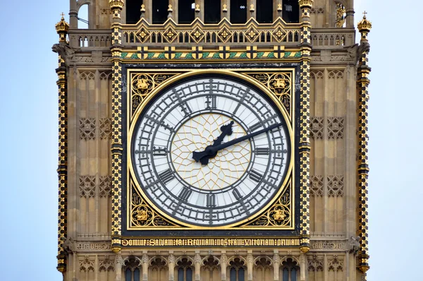
<instances>
[{"instance_id":1,"label":"gilded balustrade with pointed gables, in front of the dark openings","mask_svg":"<svg viewBox=\"0 0 423 281\"><path fill-rule=\"evenodd\" d=\"M255 18L248 19L245 25L233 25L227 18L216 25L208 25L196 17L190 25L178 25L171 18L164 25L151 25L141 18L135 26L123 26L122 32L124 43L143 43L149 47L169 43L218 47L222 43L226 46L240 43L298 43L301 30L300 23L286 25L281 17L266 25L257 23Z\"/></svg>"}]
</instances>

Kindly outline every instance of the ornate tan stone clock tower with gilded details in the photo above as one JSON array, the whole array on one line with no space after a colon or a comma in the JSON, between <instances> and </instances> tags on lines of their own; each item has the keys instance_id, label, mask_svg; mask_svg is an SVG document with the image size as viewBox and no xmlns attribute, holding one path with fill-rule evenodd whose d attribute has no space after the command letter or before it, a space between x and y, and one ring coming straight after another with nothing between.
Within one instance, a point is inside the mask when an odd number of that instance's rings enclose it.
<instances>
[{"instance_id":1,"label":"ornate tan stone clock tower with gilded details","mask_svg":"<svg viewBox=\"0 0 423 281\"><path fill-rule=\"evenodd\" d=\"M353 0L71 0L69 16L63 280L366 280L372 25L356 44Z\"/></svg>"}]
</instances>

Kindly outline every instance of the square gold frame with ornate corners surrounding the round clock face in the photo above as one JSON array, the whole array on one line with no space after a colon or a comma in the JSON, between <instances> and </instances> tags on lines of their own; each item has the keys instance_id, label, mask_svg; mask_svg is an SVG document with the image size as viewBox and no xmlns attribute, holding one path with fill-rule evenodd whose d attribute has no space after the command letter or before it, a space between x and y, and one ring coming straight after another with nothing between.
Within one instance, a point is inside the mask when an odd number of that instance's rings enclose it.
<instances>
[{"instance_id":1,"label":"square gold frame with ornate corners surrounding the round clock face","mask_svg":"<svg viewBox=\"0 0 423 281\"><path fill-rule=\"evenodd\" d=\"M126 230L295 229L295 68L237 68L220 70L178 69L176 71L161 71L154 68L129 68L126 74L128 85L126 92L126 126L128 136L126 143L128 148L126 204L128 209L126 212L126 225L123 226ZM135 131L136 121L142 113L142 110L147 107L149 101L168 85L178 83L178 80L182 78L190 78L204 74L220 74L238 78L262 90L262 92L276 104L276 107L282 113L288 125L291 145L290 163L288 164L286 178L283 180L283 184L274 198L262 207L261 210L245 220L218 227L204 227L181 222L157 208L154 203L149 200L136 180L133 170L132 155L130 153L131 136L133 136L133 132ZM134 87L135 83L137 84L136 88ZM287 83L288 85L286 85ZM287 189L290 189L289 203L284 205L283 202L286 203L286 201L283 201L282 196L286 193ZM137 196L137 204L135 204L135 206L133 196ZM278 219L278 210L284 208L283 206L286 208L286 205L289 205L289 220L283 221L288 221L288 223L278 225L275 223L276 219ZM137 217L140 219L139 222L141 222L137 225L131 225L133 223L133 212L135 212L134 207L137 208Z\"/></svg>"}]
</instances>

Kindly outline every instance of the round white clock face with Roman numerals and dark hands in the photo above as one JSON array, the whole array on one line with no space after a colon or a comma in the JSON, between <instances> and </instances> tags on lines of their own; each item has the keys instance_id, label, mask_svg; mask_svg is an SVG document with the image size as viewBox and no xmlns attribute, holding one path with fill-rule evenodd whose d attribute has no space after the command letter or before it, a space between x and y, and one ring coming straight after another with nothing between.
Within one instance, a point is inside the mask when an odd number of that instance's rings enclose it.
<instances>
[{"instance_id":1,"label":"round white clock face with Roman numerals and dark hands","mask_svg":"<svg viewBox=\"0 0 423 281\"><path fill-rule=\"evenodd\" d=\"M251 217L276 196L287 174L283 115L264 93L235 80L197 78L165 90L133 131L132 165L142 192L190 225ZM258 134L240 139L252 133Z\"/></svg>"}]
</instances>

